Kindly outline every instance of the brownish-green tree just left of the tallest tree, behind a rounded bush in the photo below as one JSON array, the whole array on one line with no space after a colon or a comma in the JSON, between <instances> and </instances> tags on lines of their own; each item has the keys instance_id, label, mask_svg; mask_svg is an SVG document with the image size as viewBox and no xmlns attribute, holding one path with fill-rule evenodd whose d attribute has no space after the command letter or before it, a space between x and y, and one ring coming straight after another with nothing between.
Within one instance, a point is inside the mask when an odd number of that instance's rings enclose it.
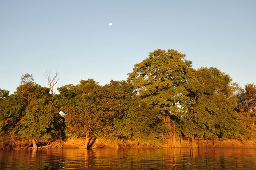
<instances>
[{"instance_id":1,"label":"brownish-green tree just left of the tallest tree, behind a rounded bush","mask_svg":"<svg viewBox=\"0 0 256 170\"><path fill-rule=\"evenodd\" d=\"M132 88L125 81L113 81L97 91L96 101L100 103L99 111L103 114L102 133L100 137L105 139L122 138L119 123L125 116L125 111L130 107L132 100Z\"/></svg>"}]
</instances>

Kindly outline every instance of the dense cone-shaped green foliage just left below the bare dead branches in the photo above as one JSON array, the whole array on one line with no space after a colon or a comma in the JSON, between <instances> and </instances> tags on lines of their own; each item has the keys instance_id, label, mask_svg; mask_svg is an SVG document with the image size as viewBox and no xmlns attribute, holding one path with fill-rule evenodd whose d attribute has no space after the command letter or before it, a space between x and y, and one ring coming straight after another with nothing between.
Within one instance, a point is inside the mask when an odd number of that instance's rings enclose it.
<instances>
[{"instance_id":1,"label":"dense cone-shaped green foliage just left below the bare dead branches","mask_svg":"<svg viewBox=\"0 0 256 170\"><path fill-rule=\"evenodd\" d=\"M22 118L20 134L31 139L50 139L58 136L57 126L61 119L58 109L52 102L49 88L35 85L31 93L30 105L26 107Z\"/></svg>"}]
</instances>

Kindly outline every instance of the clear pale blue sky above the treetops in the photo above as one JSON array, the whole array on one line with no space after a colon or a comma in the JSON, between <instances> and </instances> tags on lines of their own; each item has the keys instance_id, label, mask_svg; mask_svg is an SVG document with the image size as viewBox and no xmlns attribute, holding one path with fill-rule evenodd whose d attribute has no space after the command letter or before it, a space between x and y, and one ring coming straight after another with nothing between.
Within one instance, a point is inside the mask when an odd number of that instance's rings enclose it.
<instances>
[{"instance_id":1,"label":"clear pale blue sky above the treetops","mask_svg":"<svg viewBox=\"0 0 256 170\"><path fill-rule=\"evenodd\" d=\"M57 68L56 87L126 80L158 48L255 83L256 0L0 0L0 88L10 94L26 73L47 87Z\"/></svg>"}]
</instances>

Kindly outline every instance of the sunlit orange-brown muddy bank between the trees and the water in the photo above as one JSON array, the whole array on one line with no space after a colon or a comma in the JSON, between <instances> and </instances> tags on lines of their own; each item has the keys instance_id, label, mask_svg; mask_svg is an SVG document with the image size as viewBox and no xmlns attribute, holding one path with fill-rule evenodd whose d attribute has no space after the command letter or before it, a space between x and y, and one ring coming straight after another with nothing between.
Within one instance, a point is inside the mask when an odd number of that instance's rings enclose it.
<instances>
[{"instance_id":1,"label":"sunlit orange-brown muddy bank between the trees and the water","mask_svg":"<svg viewBox=\"0 0 256 170\"><path fill-rule=\"evenodd\" d=\"M12 141L13 142L13 141ZM28 142L28 141L26 141ZM131 144L133 143L133 144ZM25 143L20 145L13 144L9 147L2 147L2 149L33 149L32 143ZM183 147L183 148L256 148L256 140L240 141L237 139L195 139L193 142L189 139L175 141L175 144L164 144L163 146L146 145L128 141L126 144L117 144L113 141L104 141L101 139L91 138L86 139L65 139L56 141L37 141L37 149L47 148L169 148L169 147Z\"/></svg>"}]
</instances>

